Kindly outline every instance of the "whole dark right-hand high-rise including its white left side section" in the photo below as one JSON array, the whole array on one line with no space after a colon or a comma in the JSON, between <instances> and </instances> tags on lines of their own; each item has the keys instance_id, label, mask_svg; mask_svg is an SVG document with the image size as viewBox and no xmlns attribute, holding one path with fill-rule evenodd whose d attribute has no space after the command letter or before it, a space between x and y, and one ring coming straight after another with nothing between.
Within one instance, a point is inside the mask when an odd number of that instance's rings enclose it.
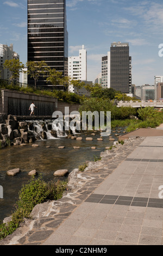
<instances>
[{"instance_id":1,"label":"whole dark right-hand high-rise including its white left side section","mask_svg":"<svg viewBox=\"0 0 163 256\"><path fill-rule=\"evenodd\" d=\"M131 93L132 65L127 42L113 42L102 57L102 87Z\"/></svg>"}]
</instances>

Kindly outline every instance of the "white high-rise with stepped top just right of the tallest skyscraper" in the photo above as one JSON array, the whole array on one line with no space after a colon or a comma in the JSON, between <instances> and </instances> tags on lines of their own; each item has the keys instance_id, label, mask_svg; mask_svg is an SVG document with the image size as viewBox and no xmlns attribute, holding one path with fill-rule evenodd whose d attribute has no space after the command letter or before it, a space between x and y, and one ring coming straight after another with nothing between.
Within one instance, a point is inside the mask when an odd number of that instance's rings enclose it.
<instances>
[{"instance_id":1,"label":"white high-rise with stepped top just right of the tallest skyscraper","mask_svg":"<svg viewBox=\"0 0 163 256\"><path fill-rule=\"evenodd\" d=\"M74 80L87 81L87 52L82 45L79 56L68 57L68 76ZM73 92L73 86L69 87Z\"/></svg>"}]
</instances>

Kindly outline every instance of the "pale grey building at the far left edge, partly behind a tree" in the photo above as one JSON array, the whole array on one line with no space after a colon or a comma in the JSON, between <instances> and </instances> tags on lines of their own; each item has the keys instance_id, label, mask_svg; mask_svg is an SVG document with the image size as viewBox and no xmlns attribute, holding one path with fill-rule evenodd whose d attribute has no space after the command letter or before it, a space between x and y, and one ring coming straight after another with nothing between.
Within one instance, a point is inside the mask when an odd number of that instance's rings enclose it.
<instances>
[{"instance_id":1,"label":"pale grey building at the far left edge, partly behind a tree","mask_svg":"<svg viewBox=\"0 0 163 256\"><path fill-rule=\"evenodd\" d=\"M10 71L8 69L3 69L3 64L5 60L10 59L19 59L20 56L13 51L13 44L3 45L0 44L0 77L4 80L9 80L11 77ZM19 82L19 79L17 80Z\"/></svg>"}]
</instances>

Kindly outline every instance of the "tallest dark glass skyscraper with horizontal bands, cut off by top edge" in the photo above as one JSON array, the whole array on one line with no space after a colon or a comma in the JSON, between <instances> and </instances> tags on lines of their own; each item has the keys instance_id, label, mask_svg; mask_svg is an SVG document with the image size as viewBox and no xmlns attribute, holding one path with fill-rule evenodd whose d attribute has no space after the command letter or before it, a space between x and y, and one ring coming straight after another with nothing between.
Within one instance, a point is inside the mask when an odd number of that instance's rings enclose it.
<instances>
[{"instance_id":1,"label":"tallest dark glass skyscraper with horizontal bands, cut off by top edge","mask_svg":"<svg viewBox=\"0 0 163 256\"><path fill-rule=\"evenodd\" d=\"M66 0L28 0L28 60L45 60L68 75ZM34 84L30 77L28 84ZM41 77L37 86L47 86L46 78Z\"/></svg>"}]
</instances>

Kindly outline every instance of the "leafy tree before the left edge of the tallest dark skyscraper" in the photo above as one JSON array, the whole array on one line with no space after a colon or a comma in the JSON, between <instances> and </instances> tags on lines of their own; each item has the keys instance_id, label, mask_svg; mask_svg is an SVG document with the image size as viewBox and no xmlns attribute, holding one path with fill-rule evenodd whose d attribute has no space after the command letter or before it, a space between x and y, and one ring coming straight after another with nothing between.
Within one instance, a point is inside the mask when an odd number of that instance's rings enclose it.
<instances>
[{"instance_id":1,"label":"leafy tree before the left edge of the tallest dark skyscraper","mask_svg":"<svg viewBox=\"0 0 163 256\"><path fill-rule=\"evenodd\" d=\"M36 89L36 83L39 80L40 76L46 76L48 72L48 66L44 60L41 62L32 62L31 60L28 60L26 63L27 66L27 73L30 76L30 78L33 78L35 81L35 89Z\"/></svg>"}]
</instances>

